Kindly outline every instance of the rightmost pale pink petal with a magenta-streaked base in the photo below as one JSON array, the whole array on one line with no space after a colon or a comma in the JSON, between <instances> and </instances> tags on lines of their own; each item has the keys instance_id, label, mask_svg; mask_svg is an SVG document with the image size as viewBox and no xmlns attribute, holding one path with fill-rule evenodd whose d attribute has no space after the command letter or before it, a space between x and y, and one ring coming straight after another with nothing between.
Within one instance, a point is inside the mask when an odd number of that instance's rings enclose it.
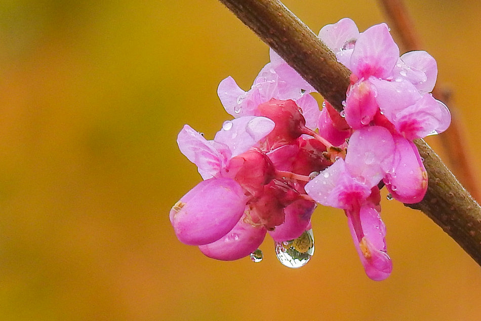
<instances>
[{"instance_id":1,"label":"rightmost pale pink petal with a magenta-streaked base","mask_svg":"<svg viewBox=\"0 0 481 321\"><path fill-rule=\"evenodd\" d=\"M445 131L451 123L451 114L445 104L431 94L424 94L414 105L400 110L392 123L399 134L414 140Z\"/></svg>"}]
</instances>

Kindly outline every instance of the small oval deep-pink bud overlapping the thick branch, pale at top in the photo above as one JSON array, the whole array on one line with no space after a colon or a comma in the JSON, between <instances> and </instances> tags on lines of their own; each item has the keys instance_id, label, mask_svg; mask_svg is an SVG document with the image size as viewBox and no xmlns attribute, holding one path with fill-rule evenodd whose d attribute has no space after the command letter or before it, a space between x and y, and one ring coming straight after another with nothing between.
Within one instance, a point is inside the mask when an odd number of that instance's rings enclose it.
<instances>
[{"instance_id":1,"label":"small oval deep-pink bud overlapping the thick branch, pale at top","mask_svg":"<svg viewBox=\"0 0 481 321\"><path fill-rule=\"evenodd\" d=\"M352 129L363 128L374 118L379 110L375 99L375 88L369 82L358 82L351 87L344 114L346 122Z\"/></svg>"}]
</instances>

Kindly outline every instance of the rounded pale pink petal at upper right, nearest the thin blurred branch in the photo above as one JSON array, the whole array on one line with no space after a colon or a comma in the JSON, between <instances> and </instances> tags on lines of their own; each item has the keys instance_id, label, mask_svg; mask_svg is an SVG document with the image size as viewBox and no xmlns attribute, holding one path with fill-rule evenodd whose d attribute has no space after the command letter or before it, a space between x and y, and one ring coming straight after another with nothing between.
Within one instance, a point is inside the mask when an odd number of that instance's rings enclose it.
<instances>
[{"instance_id":1,"label":"rounded pale pink petal at upper right, nearest the thin blurred branch","mask_svg":"<svg viewBox=\"0 0 481 321\"><path fill-rule=\"evenodd\" d=\"M436 60L425 51L410 51L402 55L400 59L402 59L404 63L408 65L413 71L421 71L424 73L424 80L410 80L421 93L430 93L433 90L434 85L436 84Z\"/></svg>"}]
</instances>

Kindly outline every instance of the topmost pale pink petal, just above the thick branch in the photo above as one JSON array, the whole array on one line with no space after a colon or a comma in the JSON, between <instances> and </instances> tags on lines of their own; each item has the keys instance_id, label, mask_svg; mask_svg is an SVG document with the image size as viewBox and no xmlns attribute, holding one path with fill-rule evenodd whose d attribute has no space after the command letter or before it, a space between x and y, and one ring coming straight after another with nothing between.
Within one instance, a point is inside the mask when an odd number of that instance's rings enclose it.
<instances>
[{"instance_id":1,"label":"topmost pale pink petal, just above the thick branch","mask_svg":"<svg viewBox=\"0 0 481 321\"><path fill-rule=\"evenodd\" d=\"M319 31L318 37L328 46L334 53L345 48L346 44L355 42L359 30L356 24L349 18L343 18L334 24L325 25Z\"/></svg>"}]
</instances>

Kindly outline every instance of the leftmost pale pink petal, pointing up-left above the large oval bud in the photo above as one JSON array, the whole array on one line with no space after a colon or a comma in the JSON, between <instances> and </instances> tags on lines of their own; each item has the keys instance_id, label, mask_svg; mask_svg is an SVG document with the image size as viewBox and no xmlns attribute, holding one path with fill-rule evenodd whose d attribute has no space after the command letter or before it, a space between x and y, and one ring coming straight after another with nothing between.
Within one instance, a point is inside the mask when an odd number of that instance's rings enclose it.
<instances>
[{"instance_id":1,"label":"leftmost pale pink petal, pointing up-left above the large oval bud","mask_svg":"<svg viewBox=\"0 0 481 321\"><path fill-rule=\"evenodd\" d=\"M212 141L208 141L189 125L177 136L180 151L198 167L203 179L217 175L223 166L222 154L217 150Z\"/></svg>"}]
</instances>

